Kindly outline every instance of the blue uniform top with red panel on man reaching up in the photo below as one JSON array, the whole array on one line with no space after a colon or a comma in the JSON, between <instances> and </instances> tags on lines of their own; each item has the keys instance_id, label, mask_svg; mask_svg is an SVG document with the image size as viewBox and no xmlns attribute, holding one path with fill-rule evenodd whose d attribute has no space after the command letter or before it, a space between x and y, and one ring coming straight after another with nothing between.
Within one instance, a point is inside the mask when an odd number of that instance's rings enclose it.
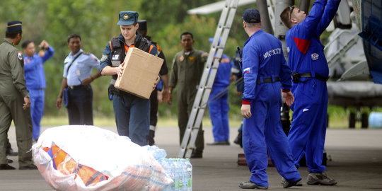
<instances>
[{"instance_id":1,"label":"blue uniform top with red panel on man reaching up","mask_svg":"<svg viewBox=\"0 0 382 191\"><path fill-rule=\"evenodd\" d=\"M309 16L288 30L285 40L291 71L329 76L320 35L335 16L340 1L330 0L326 4L327 0L315 1Z\"/></svg>"}]
</instances>

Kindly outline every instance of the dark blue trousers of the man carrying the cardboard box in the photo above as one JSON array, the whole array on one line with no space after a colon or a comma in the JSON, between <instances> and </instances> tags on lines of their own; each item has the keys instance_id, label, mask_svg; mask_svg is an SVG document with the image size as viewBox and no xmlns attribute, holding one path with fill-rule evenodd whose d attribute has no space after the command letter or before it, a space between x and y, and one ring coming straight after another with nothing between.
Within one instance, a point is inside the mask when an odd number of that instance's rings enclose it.
<instances>
[{"instance_id":1,"label":"dark blue trousers of the man carrying the cardboard box","mask_svg":"<svg viewBox=\"0 0 382 191\"><path fill-rule=\"evenodd\" d=\"M150 100L133 95L112 95L112 106L118 134L129 137L140 146L146 145L150 126Z\"/></svg>"}]
</instances>

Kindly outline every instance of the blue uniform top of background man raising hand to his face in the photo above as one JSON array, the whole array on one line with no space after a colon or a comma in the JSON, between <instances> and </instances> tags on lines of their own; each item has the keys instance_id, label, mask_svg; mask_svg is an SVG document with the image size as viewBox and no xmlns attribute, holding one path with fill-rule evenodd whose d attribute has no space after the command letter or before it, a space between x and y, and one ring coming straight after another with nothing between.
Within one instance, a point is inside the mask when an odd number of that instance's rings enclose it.
<instances>
[{"instance_id":1,"label":"blue uniform top of background man raising hand to his face","mask_svg":"<svg viewBox=\"0 0 382 191\"><path fill-rule=\"evenodd\" d=\"M53 54L54 49L51 46L49 46L43 57L40 57L37 53L33 54L33 57L28 57L24 54L25 82L28 90L45 88L47 86L44 62L50 59Z\"/></svg>"}]
</instances>

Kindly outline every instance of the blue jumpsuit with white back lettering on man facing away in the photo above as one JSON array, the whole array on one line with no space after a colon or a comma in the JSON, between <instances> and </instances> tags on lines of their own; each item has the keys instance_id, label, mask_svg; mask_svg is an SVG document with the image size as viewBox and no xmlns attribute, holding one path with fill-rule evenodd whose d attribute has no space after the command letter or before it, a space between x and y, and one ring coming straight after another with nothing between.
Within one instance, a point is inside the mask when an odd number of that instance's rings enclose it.
<instances>
[{"instance_id":1,"label":"blue jumpsuit with white back lettering on man facing away","mask_svg":"<svg viewBox=\"0 0 382 191\"><path fill-rule=\"evenodd\" d=\"M291 88L291 70L276 37L263 30L250 36L244 44L243 76L243 103L250 101L252 113L250 118L244 118L243 124L243 149L252 173L250 181L268 187L267 151L282 177L290 182L299 180L301 176L280 121L281 89ZM270 79L272 82L265 82Z\"/></svg>"}]
</instances>

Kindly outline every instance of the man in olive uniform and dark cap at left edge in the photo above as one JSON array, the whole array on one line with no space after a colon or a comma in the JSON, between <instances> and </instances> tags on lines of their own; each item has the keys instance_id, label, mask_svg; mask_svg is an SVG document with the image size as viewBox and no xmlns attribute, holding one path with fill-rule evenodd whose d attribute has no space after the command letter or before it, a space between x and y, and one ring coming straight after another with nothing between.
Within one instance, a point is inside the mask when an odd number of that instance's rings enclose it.
<instances>
[{"instance_id":1,"label":"man in olive uniform and dark cap at left edge","mask_svg":"<svg viewBox=\"0 0 382 191\"><path fill-rule=\"evenodd\" d=\"M25 85L23 54L14 47L22 37L21 21L8 22L0 45L0 170L13 170L6 158L8 129L16 127L20 170L37 169L32 161L32 119L29 92Z\"/></svg>"}]
</instances>

